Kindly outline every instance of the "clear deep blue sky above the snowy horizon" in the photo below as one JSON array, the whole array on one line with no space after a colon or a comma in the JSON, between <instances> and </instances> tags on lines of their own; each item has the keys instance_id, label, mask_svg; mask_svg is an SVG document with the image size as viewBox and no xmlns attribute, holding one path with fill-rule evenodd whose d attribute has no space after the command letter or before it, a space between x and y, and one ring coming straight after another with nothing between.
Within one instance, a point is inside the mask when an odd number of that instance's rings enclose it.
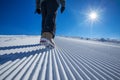
<instances>
[{"instance_id":1,"label":"clear deep blue sky above the snowy horizon","mask_svg":"<svg viewBox=\"0 0 120 80\"><path fill-rule=\"evenodd\" d=\"M98 18L91 25L92 10ZM0 34L39 35L41 15L34 11L35 0L0 0ZM120 0L66 0L56 23L56 35L120 39Z\"/></svg>"}]
</instances>

